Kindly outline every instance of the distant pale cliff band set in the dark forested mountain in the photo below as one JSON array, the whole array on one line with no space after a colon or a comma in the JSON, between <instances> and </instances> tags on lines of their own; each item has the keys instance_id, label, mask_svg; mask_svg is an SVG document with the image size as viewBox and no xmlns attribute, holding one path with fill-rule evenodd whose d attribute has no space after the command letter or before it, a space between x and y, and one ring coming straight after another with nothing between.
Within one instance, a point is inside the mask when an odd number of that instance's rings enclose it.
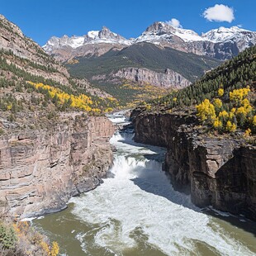
<instances>
[{"instance_id":1,"label":"distant pale cliff band set in the dark forested mountain","mask_svg":"<svg viewBox=\"0 0 256 256\"><path fill-rule=\"evenodd\" d=\"M126 68L111 73L112 78L127 79L140 84L153 84L164 88L185 88L191 82L184 78L180 73L171 69L166 69L165 73L157 73L149 69Z\"/></svg>"}]
</instances>

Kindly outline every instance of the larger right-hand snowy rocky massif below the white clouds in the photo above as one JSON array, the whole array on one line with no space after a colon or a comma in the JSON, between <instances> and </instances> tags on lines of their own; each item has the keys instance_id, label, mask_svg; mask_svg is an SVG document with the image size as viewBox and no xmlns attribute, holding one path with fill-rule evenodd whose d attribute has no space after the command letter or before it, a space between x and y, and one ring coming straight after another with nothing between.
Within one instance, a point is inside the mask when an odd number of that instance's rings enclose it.
<instances>
[{"instance_id":1,"label":"larger right-hand snowy rocky massif below the white clouds","mask_svg":"<svg viewBox=\"0 0 256 256\"><path fill-rule=\"evenodd\" d=\"M256 32L238 26L230 28L221 26L199 36L192 30L173 27L165 22L155 22L135 40L135 42L141 41L216 59L230 59L256 44Z\"/></svg>"}]
</instances>

